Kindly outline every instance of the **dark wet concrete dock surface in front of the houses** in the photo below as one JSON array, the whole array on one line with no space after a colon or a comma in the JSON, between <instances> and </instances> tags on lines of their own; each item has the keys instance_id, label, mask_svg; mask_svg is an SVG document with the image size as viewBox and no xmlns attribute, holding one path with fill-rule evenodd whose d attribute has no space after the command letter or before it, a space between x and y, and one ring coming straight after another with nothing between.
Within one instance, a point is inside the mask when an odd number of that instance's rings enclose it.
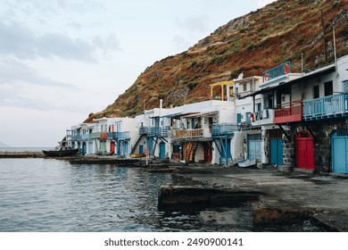
<instances>
[{"instance_id":1,"label":"dark wet concrete dock surface in front of the houses","mask_svg":"<svg viewBox=\"0 0 348 250\"><path fill-rule=\"evenodd\" d=\"M272 166L179 167L180 175L206 187L260 192L253 201L253 222L278 223L301 217L319 221L328 231L348 232L348 175L282 172Z\"/></svg>"}]
</instances>

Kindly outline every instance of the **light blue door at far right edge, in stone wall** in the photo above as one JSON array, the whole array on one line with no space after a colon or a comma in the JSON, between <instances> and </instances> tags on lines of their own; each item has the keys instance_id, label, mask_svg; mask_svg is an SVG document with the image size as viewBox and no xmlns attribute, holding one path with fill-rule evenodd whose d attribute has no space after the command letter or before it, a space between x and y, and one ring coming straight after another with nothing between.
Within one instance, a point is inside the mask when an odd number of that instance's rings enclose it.
<instances>
[{"instance_id":1,"label":"light blue door at far right edge, in stone wall","mask_svg":"<svg viewBox=\"0 0 348 250\"><path fill-rule=\"evenodd\" d=\"M348 131L336 131L332 139L332 171L348 173Z\"/></svg>"}]
</instances>

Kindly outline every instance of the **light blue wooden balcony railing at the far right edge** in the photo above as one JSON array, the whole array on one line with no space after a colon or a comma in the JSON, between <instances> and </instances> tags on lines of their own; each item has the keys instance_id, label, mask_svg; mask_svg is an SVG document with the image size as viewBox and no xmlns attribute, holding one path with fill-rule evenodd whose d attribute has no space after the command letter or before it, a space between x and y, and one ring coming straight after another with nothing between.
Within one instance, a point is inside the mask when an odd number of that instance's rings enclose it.
<instances>
[{"instance_id":1,"label":"light blue wooden balcony railing at the far right edge","mask_svg":"<svg viewBox=\"0 0 348 250\"><path fill-rule=\"evenodd\" d=\"M347 116L348 93L304 101L303 106L303 118L305 121Z\"/></svg>"}]
</instances>

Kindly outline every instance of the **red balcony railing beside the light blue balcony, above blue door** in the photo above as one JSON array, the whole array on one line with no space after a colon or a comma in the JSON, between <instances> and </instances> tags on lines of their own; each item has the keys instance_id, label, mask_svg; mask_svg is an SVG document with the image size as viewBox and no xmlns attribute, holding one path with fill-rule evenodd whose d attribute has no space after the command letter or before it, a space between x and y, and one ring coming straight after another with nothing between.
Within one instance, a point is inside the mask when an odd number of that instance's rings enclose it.
<instances>
[{"instance_id":1,"label":"red balcony railing beside the light blue balcony, above blue door","mask_svg":"<svg viewBox=\"0 0 348 250\"><path fill-rule=\"evenodd\" d=\"M288 123L294 121L302 121L302 101L295 101L286 104L281 104L274 111L274 123Z\"/></svg>"}]
</instances>

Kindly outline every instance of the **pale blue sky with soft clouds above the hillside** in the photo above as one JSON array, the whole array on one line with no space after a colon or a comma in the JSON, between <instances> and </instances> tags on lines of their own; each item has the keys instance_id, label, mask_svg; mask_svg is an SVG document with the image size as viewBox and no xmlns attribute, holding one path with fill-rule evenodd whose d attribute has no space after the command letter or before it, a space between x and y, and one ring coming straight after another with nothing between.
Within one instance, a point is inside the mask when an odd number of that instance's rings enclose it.
<instances>
[{"instance_id":1,"label":"pale blue sky with soft clouds above the hillside","mask_svg":"<svg viewBox=\"0 0 348 250\"><path fill-rule=\"evenodd\" d=\"M0 0L0 144L54 147L163 58L274 0Z\"/></svg>"}]
</instances>

